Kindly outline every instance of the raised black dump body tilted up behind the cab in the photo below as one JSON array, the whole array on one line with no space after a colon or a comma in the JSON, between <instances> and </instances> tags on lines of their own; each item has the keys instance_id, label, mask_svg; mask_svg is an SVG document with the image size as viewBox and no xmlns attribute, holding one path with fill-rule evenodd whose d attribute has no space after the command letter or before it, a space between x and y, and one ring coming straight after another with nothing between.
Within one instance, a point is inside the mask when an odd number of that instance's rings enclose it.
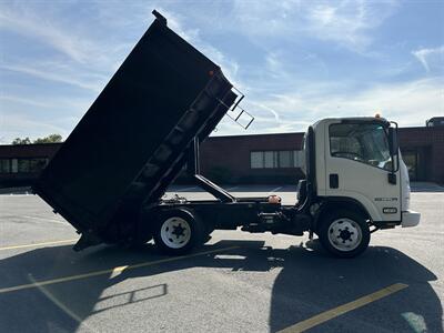
<instances>
[{"instance_id":1,"label":"raised black dump body tilted up behind the cab","mask_svg":"<svg viewBox=\"0 0 444 333\"><path fill-rule=\"evenodd\" d=\"M137 232L238 95L221 69L158 18L69 135L34 192L83 236Z\"/></svg>"}]
</instances>

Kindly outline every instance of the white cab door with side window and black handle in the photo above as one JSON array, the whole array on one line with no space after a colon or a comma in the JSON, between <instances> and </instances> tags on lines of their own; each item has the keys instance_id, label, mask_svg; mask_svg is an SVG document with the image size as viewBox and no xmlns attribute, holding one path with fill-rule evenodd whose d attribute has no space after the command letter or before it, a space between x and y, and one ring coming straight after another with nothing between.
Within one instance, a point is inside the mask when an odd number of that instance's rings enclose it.
<instances>
[{"instance_id":1,"label":"white cab door with side window and black handle","mask_svg":"<svg viewBox=\"0 0 444 333\"><path fill-rule=\"evenodd\" d=\"M326 195L357 200L373 221L401 221L398 171L389 176L393 158L387 128L382 120L337 121L325 127Z\"/></svg>"}]
</instances>

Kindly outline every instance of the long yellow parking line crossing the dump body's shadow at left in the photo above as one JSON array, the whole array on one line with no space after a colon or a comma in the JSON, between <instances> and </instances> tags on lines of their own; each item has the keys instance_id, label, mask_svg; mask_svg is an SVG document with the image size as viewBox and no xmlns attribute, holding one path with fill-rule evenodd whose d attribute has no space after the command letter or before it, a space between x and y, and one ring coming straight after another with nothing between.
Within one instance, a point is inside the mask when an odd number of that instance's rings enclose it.
<instances>
[{"instance_id":1,"label":"long yellow parking line crossing the dump body's shadow at left","mask_svg":"<svg viewBox=\"0 0 444 333\"><path fill-rule=\"evenodd\" d=\"M31 289L31 287L40 287L43 285L48 284L56 284L56 283L61 283L61 282L69 282L69 281L74 281L74 280L81 280L81 279L88 279L88 278L93 278L93 276L99 276L99 275L105 275L105 274L112 274L112 273L120 273L124 270L133 270L133 269L140 269L140 268L145 268L145 266L152 266L165 262L172 262L172 261L178 261L181 259L188 259L188 258L193 258L198 255L204 255L204 254L211 254L211 253L216 253L216 252L222 252L222 251L229 251L233 249L238 249L239 246L231 246L231 248L224 248L224 249L218 249L218 250L211 250L211 251L205 251L205 252L198 252L189 255L181 255L181 256L172 256L172 258L167 258L162 260L157 260L157 261L150 261L150 262L142 262L139 264L134 265L125 265L125 266L118 266L118 268L112 268L103 271L97 271L97 272L90 272L90 273L84 273L84 274L79 274L79 275L70 275L70 276L63 276L63 278L58 278L58 279L52 279L52 280L47 280L47 281L40 281L40 282L34 282L34 283L29 283L29 284L21 284L21 285L14 285L14 286L9 286L9 287L3 287L0 289L0 294L3 293L9 293L13 291L19 291L19 290L24 290L24 289Z\"/></svg>"}]
</instances>

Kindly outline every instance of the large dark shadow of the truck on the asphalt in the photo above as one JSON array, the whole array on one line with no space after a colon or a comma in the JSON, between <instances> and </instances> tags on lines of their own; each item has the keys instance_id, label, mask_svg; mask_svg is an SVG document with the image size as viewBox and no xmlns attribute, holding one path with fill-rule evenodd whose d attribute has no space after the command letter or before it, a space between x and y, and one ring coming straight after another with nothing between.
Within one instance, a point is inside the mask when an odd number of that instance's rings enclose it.
<instances>
[{"instance_id":1,"label":"large dark shadow of the truck on the asphalt","mask_svg":"<svg viewBox=\"0 0 444 333\"><path fill-rule=\"evenodd\" d=\"M158 254L150 244L138 250L103 246L82 253L72 252L69 245L32 250L0 261L0 289L121 269L119 274L107 272L88 279L48 284L40 286L40 291L28 289L0 293L0 331L74 332L85 319L99 312L150 302L168 294L167 283L153 283L111 295L103 293L120 282L191 268L225 268L232 271L280 269L270 304L269 323L272 332L398 282L410 286L377 301L377 304L366 305L329 322L327 331L375 332L386 329L421 332L418 327L425 326L428 332L443 332L442 304L428 283L436 276L410 256L391 248L374 246L360 258L340 260L319 250L316 242L309 245L273 250L265 248L263 242L221 241L199 250L215 251L211 254L130 270L124 266L167 256ZM229 246L239 248L223 251ZM218 252L218 249L221 251ZM120 299L123 301L118 301ZM147 313L147 321L149 315ZM325 326L314 330L325 331Z\"/></svg>"}]
</instances>

